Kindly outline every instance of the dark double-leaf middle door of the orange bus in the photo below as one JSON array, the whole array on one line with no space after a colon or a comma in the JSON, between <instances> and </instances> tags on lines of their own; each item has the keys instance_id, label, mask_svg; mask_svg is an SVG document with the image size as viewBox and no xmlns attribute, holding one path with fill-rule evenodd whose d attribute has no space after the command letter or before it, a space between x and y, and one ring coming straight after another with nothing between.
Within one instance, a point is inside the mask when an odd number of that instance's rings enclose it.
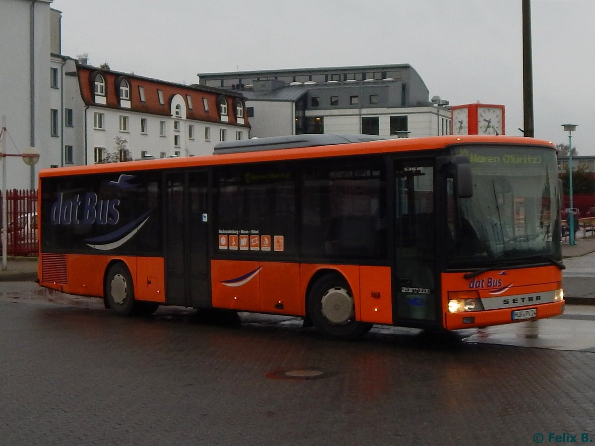
<instances>
[{"instance_id":1,"label":"dark double-leaf middle door of the orange bus","mask_svg":"<svg viewBox=\"0 0 595 446\"><path fill-rule=\"evenodd\" d=\"M207 173L165 175L165 302L211 307Z\"/></svg>"}]
</instances>

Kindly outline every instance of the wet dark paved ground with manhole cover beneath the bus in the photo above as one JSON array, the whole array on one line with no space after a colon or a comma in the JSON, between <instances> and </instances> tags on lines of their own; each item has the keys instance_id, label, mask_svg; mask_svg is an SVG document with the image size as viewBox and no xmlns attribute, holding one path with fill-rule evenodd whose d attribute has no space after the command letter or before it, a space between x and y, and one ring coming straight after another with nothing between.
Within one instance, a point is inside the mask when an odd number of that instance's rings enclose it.
<instances>
[{"instance_id":1,"label":"wet dark paved ground with manhole cover beneath the bus","mask_svg":"<svg viewBox=\"0 0 595 446\"><path fill-rule=\"evenodd\" d=\"M340 343L295 318L199 314L171 307L124 319L99 299L0 284L0 444L595 440L588 348L398 328Z\"/></svg>"}]
</instances>

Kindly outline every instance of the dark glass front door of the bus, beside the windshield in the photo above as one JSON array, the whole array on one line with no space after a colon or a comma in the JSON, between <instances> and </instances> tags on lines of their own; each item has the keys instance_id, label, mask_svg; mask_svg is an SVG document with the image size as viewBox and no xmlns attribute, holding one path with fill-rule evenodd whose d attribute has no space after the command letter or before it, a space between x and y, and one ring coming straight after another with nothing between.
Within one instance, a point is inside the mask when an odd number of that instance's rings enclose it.
<instances>
[{"instance_id":1,"label":"dark glass front door of the bus, beside the windshield","mask_svg":"<svg viewBox=\"0 0 595 446\"><path fill-rule=\"evenodd\" d=\"M436 321L434 168L431 160L395 166L393 319Z\"/></svg>"}]
</instances>

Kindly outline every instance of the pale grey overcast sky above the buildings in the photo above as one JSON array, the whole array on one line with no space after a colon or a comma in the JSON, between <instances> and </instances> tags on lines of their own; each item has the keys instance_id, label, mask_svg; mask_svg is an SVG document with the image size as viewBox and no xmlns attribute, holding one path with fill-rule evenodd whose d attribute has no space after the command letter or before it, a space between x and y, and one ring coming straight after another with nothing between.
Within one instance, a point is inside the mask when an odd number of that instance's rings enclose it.
<instances>
[{"instance_id":1,"label":"pale grey overcast sky above the buildings","mask_svg":"<svg viewBox=\"0 0 595 446\"><path fill-rule=\"evenodd\" d=\"M54 0L62 54L177 83L196 73L410 64L430 98L523 127L521 0ZM535 136L595 155L595 1L531 1Z\"/></svg>"}]
</instances>

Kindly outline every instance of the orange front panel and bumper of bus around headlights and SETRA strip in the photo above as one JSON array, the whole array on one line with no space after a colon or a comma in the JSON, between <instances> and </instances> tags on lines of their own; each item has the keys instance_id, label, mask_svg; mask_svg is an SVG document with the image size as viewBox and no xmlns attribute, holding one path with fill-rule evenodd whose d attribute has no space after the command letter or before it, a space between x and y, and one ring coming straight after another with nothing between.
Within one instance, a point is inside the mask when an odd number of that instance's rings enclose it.
<instances>
[{"instance_id":1,"label":"orange front panel and bumper of bus around headlights and SETRA strip","mask_svg":"<svg viewBox=\"0 0 595 446\"><path fill-rule=\"evenodd\" d=\"M477 326L500 325L511 323L512 311L525 308L537 308L535 319L551 318L563 313L564 301L549 303L523 304L522 306L502 307L484 311L449 313L449 291L477 291L481 299L497 299L521 294L537 294L544 291L558 290L562 284L562 271L557 266L539 268L497 269L487 271L477 277L465 279L464 273L442 273L442 307L444 328L456 330ZM512 300L512 299L511 299ZM463 318L473 317L473 323L463 323ZM531 319L522 319L519 322Z\"/></svg>"}]
</instances>

